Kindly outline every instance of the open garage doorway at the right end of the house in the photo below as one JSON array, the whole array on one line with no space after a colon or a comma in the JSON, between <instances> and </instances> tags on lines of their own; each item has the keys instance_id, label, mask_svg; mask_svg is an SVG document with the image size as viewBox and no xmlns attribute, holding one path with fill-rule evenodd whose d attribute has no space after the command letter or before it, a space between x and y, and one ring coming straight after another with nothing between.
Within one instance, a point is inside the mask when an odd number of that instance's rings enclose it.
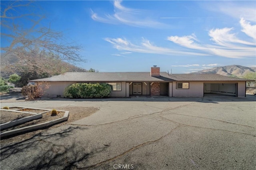
<instances>
[{"instance_id":1,"label":"open garage doorway at the right end of the house","mask_svg":"<svg viewBox=\"0 0 256 170\"><path fill-rule=\"evenodd\" d=\"M204 83L204 96L212 94L237 97L237 83Z\"/></svg>"}]
</instances>

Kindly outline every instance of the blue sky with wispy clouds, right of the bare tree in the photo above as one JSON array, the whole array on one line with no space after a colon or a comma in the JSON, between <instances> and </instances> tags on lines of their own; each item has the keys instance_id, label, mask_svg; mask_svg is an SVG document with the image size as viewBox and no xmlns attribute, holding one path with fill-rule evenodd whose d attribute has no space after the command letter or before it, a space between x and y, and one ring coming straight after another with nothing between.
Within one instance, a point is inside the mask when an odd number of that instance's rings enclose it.
<instances>
[{"instance_id":1,"label":"blue sky with wispy clouds, right of the bare tree","mask_svg":"<svg viewBox=\"0 0 256 170\"><path fill-rule=\"evenodd\" d=\"M189 73L256 65L256 1L37 3L47 16L41 24L82 45L82 68L144 72L157 65Z\"/></svg>"}]
</instances>

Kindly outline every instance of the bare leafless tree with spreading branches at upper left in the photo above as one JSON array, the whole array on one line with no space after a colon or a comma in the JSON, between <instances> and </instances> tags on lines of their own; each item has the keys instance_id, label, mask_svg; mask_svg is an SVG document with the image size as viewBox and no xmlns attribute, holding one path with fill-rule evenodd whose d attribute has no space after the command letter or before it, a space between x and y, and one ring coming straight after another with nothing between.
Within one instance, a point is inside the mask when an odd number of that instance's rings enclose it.
<instances>
[{"instance_id":1,"label":"bare leafless tree with spreading branches at upper left","mask_svg":"<svg viewBox=\"0 0 256 170\"><path fill-rule=\"evenodd\" d=\"M1 61L1 69L19 72L46 72L50 75L69 70L69 63L81 62L82 47L67 40L62 32L41 25L45 16L34 1L1 1L1 39L7 57L17 62ZM24 13L25 12L25 13ZM26 21L24 23L24 21Z\"/></svg>"}]
</instances>

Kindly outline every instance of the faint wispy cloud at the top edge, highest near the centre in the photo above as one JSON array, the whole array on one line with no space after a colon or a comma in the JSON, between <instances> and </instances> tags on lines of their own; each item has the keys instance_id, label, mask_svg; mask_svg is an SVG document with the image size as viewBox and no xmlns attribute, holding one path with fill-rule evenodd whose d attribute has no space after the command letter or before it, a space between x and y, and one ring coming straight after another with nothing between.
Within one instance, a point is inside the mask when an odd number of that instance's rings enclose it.
<instances>
[{"instance_id":1,"label":"faint wispy cloud at the top edge, highest near the centre","mask_svg":"<svg viewBox=\"0 0 256 170\"><path fill-rule=\"evenodd\" d=\"M168 28L170 25L160 23L158 21L150 20L147 18L145 11L126 8L122 6L122 1L114 1L114 14L105 14L99 16L91 10L91 18L94 21L110 24L125 24L134 27L154 27L154 28Z\"/></svg>"}]
</instances>

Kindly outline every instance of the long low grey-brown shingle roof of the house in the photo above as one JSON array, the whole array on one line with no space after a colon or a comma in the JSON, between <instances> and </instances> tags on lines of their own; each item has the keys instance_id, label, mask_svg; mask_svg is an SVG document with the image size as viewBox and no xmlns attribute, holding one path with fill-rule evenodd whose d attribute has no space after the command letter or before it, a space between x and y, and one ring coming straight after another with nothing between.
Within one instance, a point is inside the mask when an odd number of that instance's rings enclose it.
<instances>
[{"instance_id":1,"label":"long low grey-brown shingle roof of the house","mask_svg":"<svg viewBox=\"0 0 256 170\"><path fill-rule=\"evenodd\" d=\"M173 82L173 81L254 81L243 78L222 76L220 74L169 74L160 72L159 77L150 76L150 72L66 72L50 78L36 81L76 81L76 82Z\"/></svg>"}]
</instances>

